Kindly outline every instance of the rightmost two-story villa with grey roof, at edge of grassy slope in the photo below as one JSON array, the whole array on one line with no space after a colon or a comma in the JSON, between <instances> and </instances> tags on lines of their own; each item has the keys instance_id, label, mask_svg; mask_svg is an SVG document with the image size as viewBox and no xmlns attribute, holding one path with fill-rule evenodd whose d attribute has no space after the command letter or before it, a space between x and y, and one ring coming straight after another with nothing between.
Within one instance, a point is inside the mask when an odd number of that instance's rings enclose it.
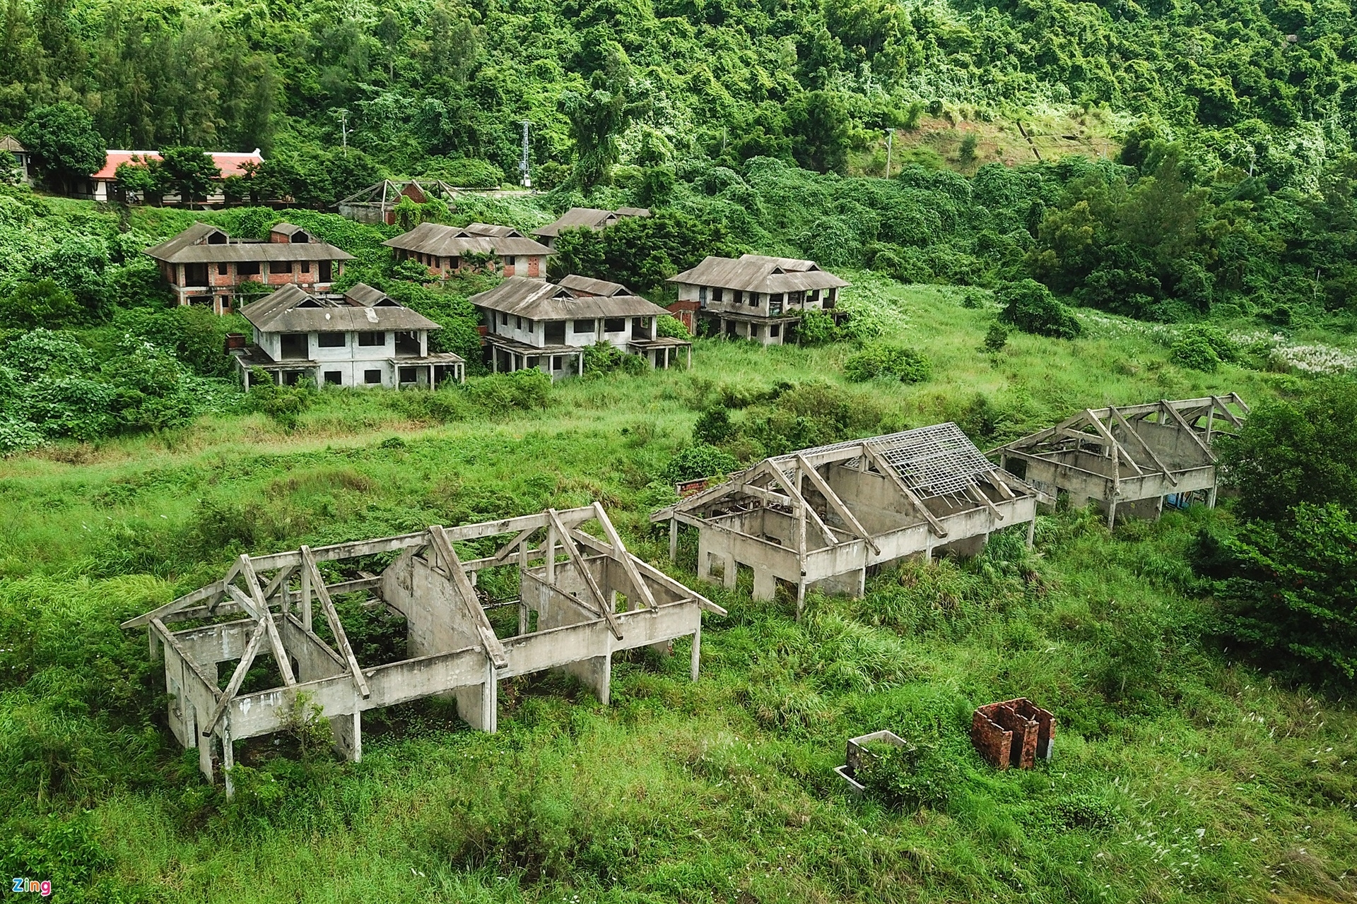
<instances>
[{"instance_id":1,"label":"rightmost two-story villa with grey roof, at edge of grassy slope","mask_svg":"<svg viewBox=\"0 0 1357 904\"><path fill-rule=\"evenodd\" d=\"M670 310L691 310L721 336L740 336L763 346L795 339L801 314L833 312L848 283L814 260L742 255L707 258L669 282L678 286Z\"/></svg>"}]
</instances>

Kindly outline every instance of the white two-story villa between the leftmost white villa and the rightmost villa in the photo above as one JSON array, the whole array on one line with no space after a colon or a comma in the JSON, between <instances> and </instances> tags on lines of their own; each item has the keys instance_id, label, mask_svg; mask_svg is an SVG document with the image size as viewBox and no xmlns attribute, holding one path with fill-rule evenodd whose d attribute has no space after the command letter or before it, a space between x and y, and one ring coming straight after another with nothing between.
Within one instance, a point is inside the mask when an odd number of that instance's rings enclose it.
<instances>
[{"instance_id":1,"label":"white two-story villa between the leftmost white villa and the rightmost villa","mask_svg":"<svg viewBox=\"0 0 1357 904\"><path fill-rule=\"evenodd\" d=\"M536 367L552 379L584 373L585 348L600 342L645 355L651 367L668 367L692 343L655 335L665 309L632 295L626 286L566 276L559 286L513 276L471 297L486 321L494 371Z\"/></svg>"}]
</instances>

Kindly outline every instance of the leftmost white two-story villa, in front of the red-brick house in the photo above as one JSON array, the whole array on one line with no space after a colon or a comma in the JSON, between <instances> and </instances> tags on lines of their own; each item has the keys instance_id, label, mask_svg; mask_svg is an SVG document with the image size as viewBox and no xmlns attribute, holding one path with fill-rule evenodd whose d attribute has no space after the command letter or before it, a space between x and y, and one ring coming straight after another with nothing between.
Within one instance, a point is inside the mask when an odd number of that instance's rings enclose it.
<instances>
[{"instance_id":1,"label":"leftmost white two-story villa, in front of the red-brick house","mask_svg":"<svg viewBox=\"0 0 1357 904\"><path fill-rule=\"evenodd\" d=\"M240 313L254 327L254 344L236 352L246 389L251 367L281 385L430 389L465 378L460 355L429 351L438 324L366 283L335 295L284 286Z\"/></svg>"}]
</instances>

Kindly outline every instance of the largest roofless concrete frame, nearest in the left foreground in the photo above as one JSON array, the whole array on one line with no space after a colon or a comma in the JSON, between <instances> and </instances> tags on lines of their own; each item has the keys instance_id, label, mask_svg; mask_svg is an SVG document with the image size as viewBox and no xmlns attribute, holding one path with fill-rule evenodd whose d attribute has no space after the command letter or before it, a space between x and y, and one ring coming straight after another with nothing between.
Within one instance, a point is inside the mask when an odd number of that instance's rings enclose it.
<instances>
[{"instance_id":1,"label":"largest roofless concrete frame, nearest in the left foreground","mask_svg":"<svg viewBox=\"0 0 1357 904\"><path fill-rule=\"evenodd\" d=\"M581 527L596 520L604 539ZM456 541L512 534L490 557L463 561ZM327 584L320 562L399 552L380 575ZM476 595L476 575L495 565L518 567L518 632L495 636ZM406 618L408 659L364 667L356 659L332 598L365 591ZM619 598L626 609L619 611ZM316 611L319 610L319 613ZM725 610L627 552L594 503L565 511L442 527L332 546L242 554L225 576L138 615L123 628L147 628L152 659L164 660L168 721L198 767L214 779L220 760L227 794L233 792L232 744L293 724L305 706L320 706L337 749L362 756L364 710L436 694L456 698L474 728L497 728L498 682L547 668L577 675L607 705L616 651L668 645L692 637L697 680L702 611ZM536 629L529 632L531 614ZM220 619L171 630L172 622ZM313 630L323 618L334 645ZM273 656L282 684L242 694L255 657ZM220 663L239 660L225 689Z\"/></svg>"}]
</instances>

